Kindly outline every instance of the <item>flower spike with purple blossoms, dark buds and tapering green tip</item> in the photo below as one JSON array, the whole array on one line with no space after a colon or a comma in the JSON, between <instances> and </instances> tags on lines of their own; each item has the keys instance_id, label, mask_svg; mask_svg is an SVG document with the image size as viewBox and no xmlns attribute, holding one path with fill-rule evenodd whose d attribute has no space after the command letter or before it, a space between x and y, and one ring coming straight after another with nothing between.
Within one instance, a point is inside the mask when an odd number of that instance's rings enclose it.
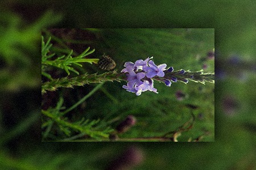
<instances>
[{"instance_id":1,"label":"flower spike with purple blossoms, dark buds and tapering green tip","mask_svg":"<svg viewBox=\"0 0 256 170\"><path fill-rule=\"evenodd\" d=\"M168 67L166 63L155 65L152 61L153 57L148 57L145 60L139 59L133 62L126 62L125 69L121 73L126 73L127 86L123 86L127 91L135 93L137 96L144 91L152 91L158 94L154 88L154 80L163 82L170 87L172 82L183 82L187 84L189 80L193 82L214 83L214 73L203 73L203 70L192 72L190 70L177 70L174 67Z\"/></svg>"}]
</instances>

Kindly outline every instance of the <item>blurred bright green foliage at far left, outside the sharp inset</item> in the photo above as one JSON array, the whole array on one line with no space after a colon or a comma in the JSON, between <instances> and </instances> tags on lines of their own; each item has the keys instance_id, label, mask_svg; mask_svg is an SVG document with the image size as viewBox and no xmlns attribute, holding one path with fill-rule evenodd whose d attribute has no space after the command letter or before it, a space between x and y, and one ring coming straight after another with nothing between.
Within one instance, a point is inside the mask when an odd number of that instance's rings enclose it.
<instances>
[{"instance_id":1,"label":"blurred bright green foliage at far left, outside the sharp inset","mask_svg":"<svg viewBox=\"0 0 256 170\"><path fill-rule=\"evenodd\" d=\"M22 17L13 12L0 12L0 90L20 91L23 88L39 87L37 64L34 57L40 46L39 32L61 20L62 16L46 11L34 23L26 24Z\"/></svg>"}]
</instances>

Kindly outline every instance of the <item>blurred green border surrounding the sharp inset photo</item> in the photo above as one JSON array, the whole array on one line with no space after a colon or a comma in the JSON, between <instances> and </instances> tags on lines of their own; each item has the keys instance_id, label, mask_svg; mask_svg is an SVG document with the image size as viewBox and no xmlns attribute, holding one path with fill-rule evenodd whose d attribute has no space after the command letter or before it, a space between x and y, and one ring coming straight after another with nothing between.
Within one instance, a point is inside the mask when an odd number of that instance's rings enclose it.
<instances>
[{"instance_id":1,"label":"blurred green border surrounding the sharp inset photo","mask_svg":"<svg viewBox=\"0 0 256 170\"><path fill-rule=\"evenodd\" d=\"M0 164L2 169L108 169L114 165L116 165L115 169L124 167L130 169L255 169L256 158L253 154L256 148L255 90L253 88L256 40L255 2L249 0L188 3L1 1L0 4ZM209 42L209 49L203 49L200 45L195 48L193 45L196 43L191 43L192 47L189 48L190 42L187 45L180 42L176 45L184 45L184 49L178 50L171 46L173 56L168 57L160 55L163 51L167 54L170 50L166 49L165 44L163 46L158 44L158 50L149 49L146 46L146 51L139 48L142 51L138 54L133 52L135 49L113 49L111 45L98 48L98 53L93 53L96 55L93 57L108 53L117 63L126 62L122 57L129 57L130 61L141 59L143 54L142 59L146 56L155 56L156 63L167 63L168 66L174 66L174 69L192 70L191 66L193 66L195 69L203 67L212 71L213 63L204 62L213 61L202 62L200 58L206 57L208 50L213 50L214 47L217 88L217 90L214 89L216 92L215 138L210 138L209 135L205 140L214 139L215 142L193 144L188 142L40 142L40 101L42 101L39 97L40 35L42 28L57 27L215 28L215 47L210 39L205 40L208 36L204 38L203 33L202 37L197 36L198 42L202 40ZM187 36L189 39L191 29L182 30L186 34L181 34L181 37ZM195 32L192 29L190 35L193 33ZM191 40L195 37L192 36ZM118 37L115 39L118 42ZM114 45L120 47L125 44ZM187 51L189 54L185 55ZM196 58L197 53L199 53L199 61L195 59L194 63L179 61L176 58L176 56ZM119 69L122 65L118 66ZM116 89L123 91L121 84L114 84ZM190 90L193 88L198 90L199 87L189 87L199 85L189 82L187 85L173 83L170 88L164 84L155 84L155 87L158 88L158 96L175 99L176 90L191 93ZM104 84L104 88L109 90L109 93L114 91L111 91L110 86L112 84ZM209 86L213 88L213 84L209 83L203 87L208 90L206 87ZM139 100L129 92L123 91L122 94L125 96L117 96L114 93L112 95L117 99ZM139 97L142 99L143 96L154 95L156 94L144 92ZM126 96L130 98L126 99ZM181 100L181 103L191 100L189 98L191 96L192 94L187 99ZM111 102L108 97L106 100ZM199 101L195 100L195 102ZM175 100L175 103L179 101ZM146 105L140 107L146 107ZM102 111L105 110L102 109ZM159 113L157 115L163 116ZM207 118L203 117L203 120ZM191 135L188 134L188 136Z\"/></svg>"}]
</instances>

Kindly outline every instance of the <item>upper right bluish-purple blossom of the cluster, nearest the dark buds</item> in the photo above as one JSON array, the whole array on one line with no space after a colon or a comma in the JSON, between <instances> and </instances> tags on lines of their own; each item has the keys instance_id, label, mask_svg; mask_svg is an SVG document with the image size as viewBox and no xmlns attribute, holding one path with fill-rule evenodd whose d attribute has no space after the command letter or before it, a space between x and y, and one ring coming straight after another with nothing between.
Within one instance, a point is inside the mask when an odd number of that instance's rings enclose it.
<instances>
[{"instance_id":1,"label":"upper right bluish-purple blossom of the cluster, nearest the dark buds","mask_svg":"<svg viewBox=\"0 0 256 170\"><path fill-rule=\"evenodd\" d=\"M149 67L148 67L149 66ZM154 76L164 76L164 70L166 70L166 64L162 64L159 66L156 66L155 63L150 60L148 61L148 66L143 66L143 70L146 71L147 78L152 78Z\"/></svg>"}]
</instances>

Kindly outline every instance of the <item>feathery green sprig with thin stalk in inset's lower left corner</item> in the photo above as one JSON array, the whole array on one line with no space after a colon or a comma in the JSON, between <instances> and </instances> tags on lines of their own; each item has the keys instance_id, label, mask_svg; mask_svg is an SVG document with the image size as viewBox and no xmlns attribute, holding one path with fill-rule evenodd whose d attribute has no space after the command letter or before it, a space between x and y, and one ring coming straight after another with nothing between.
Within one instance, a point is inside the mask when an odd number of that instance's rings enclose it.
<instances>
[{"instance_id":1,"label":"feathery green sprig with thin stalk in inset's lower left corner","mask_svg":"<svg viewBox=\"0 0 256 170\"><path fill-rule=\"evenodd\" d=\"M100 84L101 85L101 84ZM100 86L99 86L100 87ZM60 98L55 108L49 108L47 111L42 110L42 113L44 116L47 116L48 118L44 120L43 118L43 124L42 129L46 128L46 131L42 131L43 141L45 140L64 140L69 141L70 139L76 139L79 137L82 137L83 135L88 135L91 138L95 138L97 140L101 140L101 138L108 138L108 134L112 132L113 130L106 127L105 129L100 128L100 126L97 126L97 124L100 122L100 120L84 120L84 118L81 118L81 120L76 122L68 122L66 117L63 117L66 113L71 111L72 109L76 108L77 105L85 101L90 95L92 95L95 91L97 91L98 87L95 88L92 93L86 95L83 99L81 99L77 104L75 104L73 107L67 109L64 112L61 112L61 109L64 109L62 107L63 105L63 98ZM59 134L59 137L54 137L54 134L49 134L53 122L57 124L57 133ZM61 133L62 132L62 133ZM72 138L65 138L65 137L71 137L75 133L79 133L79 135L75 135ZM63 137L61 137L63 136ZM52 138L51 138L52 137Z\"/></svg>"}]
</instances>

